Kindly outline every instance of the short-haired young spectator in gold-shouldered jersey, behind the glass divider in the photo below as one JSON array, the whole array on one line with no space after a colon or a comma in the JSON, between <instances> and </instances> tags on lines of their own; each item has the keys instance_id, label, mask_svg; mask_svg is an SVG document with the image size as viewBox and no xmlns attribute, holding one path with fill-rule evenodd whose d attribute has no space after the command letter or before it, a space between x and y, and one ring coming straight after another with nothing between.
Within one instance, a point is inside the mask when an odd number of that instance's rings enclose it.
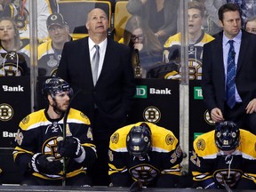
<instances>
[{"instance_id":1,"label":"short-haired young spectator in gold-shouldered jersey, behind the glass divider","mask_svg":"<svg viewBox=\"0 0 256 192\"><path fill-rule=\"evenodd\" d=\"M202 30L204 4L188 2L188 68L190 80L202 79L203 46L214 38ZM170 36L164 44L164 62L180 63L180 33ZM180 68L171 71L164 78L180 78Z\"/></svg>"}]
</instances>

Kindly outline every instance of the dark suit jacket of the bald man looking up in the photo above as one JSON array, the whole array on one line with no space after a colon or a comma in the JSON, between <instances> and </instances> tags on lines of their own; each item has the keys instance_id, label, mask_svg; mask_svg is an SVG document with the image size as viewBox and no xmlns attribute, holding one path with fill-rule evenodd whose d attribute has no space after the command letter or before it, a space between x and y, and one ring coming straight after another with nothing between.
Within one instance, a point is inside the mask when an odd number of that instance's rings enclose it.
<instances>
[{"instance_id":1,"label":"dark suit jacket of the bald man looking up","mask_svg":"<svg viewBox=\"0 0 256 192\"><path fill-rule=\"evenodd\" d=\"M83 91L71 106L82 110L91 121L96 105L106 131L124 125L135 94L131 52L127 46L108 38L103 67L94 87L88 37L68 42L63 48L57 76L68 81L74 92Z\"/></svg>"}]
</instances>

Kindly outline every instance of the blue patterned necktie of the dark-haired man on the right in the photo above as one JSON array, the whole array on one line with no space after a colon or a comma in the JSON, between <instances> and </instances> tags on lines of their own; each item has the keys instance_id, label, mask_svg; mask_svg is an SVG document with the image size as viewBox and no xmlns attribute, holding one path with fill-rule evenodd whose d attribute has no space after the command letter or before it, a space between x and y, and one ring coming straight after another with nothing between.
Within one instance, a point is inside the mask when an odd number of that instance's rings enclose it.
<instances>
[{"instance_id":1,"label":"blue patterned necktie of the dark-haired man on the right","mask_svg":"<svg viewBox=\"0 0 256 192\"><path fill-rule=\"evenodd\" d=\"M235 86L235 76L236 76L236 64L235 55L236 52L233 46L234 41L229 40L230 48L228 51L228 68L227 68L227 82L226 82L226 94L227 94L227 104L229 108L234 108L236 104L236 86Z\"/></svg>"}]
</instances>

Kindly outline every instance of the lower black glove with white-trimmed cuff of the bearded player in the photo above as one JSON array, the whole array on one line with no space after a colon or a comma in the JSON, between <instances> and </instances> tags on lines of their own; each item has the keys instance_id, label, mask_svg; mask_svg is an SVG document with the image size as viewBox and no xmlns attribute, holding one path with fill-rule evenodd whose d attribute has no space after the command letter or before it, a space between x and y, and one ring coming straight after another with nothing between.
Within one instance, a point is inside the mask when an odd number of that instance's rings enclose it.
<instances>
[{"instance_id":1,"label":"lower black glove with white-trimmed cuff of the bearded player","mask_svg":"<svg viewBox=\"0 0 256 192\"><path fill-rule=\"evenodd\" d=\"M60 160L56 160L53 156L36 153L32 156L31 168L34 172L58 174L62 171L63 165Z\"/></svg>"}]
</instances>

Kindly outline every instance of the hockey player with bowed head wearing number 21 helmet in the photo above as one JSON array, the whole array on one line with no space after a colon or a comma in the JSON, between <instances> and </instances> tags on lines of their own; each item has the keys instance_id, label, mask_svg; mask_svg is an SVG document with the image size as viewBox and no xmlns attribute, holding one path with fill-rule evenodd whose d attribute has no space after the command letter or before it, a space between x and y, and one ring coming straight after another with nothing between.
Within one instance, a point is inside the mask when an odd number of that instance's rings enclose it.
<instances>
[{"instance_id":1,"label":"hockey player with bowed head wearing number 21 helmet","mask_svg":"<svg viewBox=\"0 0 256 192\"><path fill-rule=\"evenodd\" d=\"M193 188L255 190L255 145L256 136L231 121L198 136L190 156Z\"/></svg>"}]
</instances>

